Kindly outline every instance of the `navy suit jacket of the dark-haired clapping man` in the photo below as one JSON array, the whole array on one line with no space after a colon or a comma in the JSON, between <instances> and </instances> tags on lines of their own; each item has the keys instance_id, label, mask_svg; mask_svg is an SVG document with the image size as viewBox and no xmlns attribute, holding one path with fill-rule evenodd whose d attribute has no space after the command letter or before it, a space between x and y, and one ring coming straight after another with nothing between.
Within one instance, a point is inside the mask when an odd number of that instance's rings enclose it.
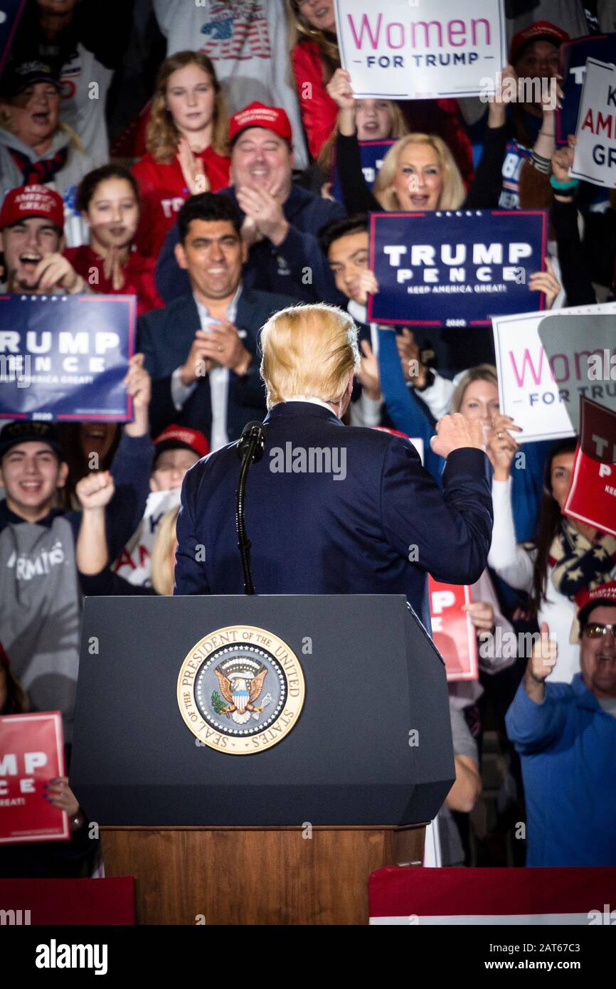
<instances>
[{"instance_id":1,"label":"navy suit jacket of the dark-haired clapping man","mask_svg":"<svg viewBox=\"0 0 616 989\"><path fill-rule=\"evenodd\" d=\"M239 377L229 372L226 404L226 431L237 439L251 419L265 414L265 388L259 376L260 358L257 354L259 331L270 315L296 305L289 296L255 292L242 288L237 301L235 326L243 330L242 344L252 354L247 373ZM137 325L137 346L145 355L145 368L152 378L150 419L152 435L172 422L201 429L210 441L212 403L208 375L197 379L197 387L182 411L178 412L171 399L171 375L188 357L195 332L201 321L192 294L182 296L161 310L142 315Z\"/></svg>"}]
</instances>

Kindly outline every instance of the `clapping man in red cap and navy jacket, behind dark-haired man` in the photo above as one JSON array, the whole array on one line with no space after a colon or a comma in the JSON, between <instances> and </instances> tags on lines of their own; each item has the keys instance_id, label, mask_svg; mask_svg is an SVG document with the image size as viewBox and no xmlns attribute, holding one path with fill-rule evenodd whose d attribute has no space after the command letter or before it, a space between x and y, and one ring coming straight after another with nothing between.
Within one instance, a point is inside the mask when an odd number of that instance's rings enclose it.
<instances>
[{"instance_id":1,"label":"clapping man in red cap and navy jacket, behind dark-haired man","mask_svg":"<svg viewBox=\"0 0 616 989\"><path fill-rule=\"evenodd\" d=\"M344 216L340 203L292 184L291 124L284 110L251 103L231 117L232 186L221 189L241 210L242 235L249 247L246 288L279 292L300 302L343 305L317 239L317 231ZM156 288L166 303L188 292L178 268L176 223L162 245Z\"/></svg>"}]
</instances>

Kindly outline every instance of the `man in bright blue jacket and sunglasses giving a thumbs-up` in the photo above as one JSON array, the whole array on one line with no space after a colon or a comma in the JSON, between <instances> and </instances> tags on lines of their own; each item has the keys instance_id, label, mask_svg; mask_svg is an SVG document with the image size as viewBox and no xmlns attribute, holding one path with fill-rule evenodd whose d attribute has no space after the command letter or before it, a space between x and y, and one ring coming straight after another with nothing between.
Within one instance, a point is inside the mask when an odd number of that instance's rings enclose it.
<instances>
[{"instance_id":1,"label":"man in bright blue jacket and sunglasses giving a thumbs-up","mask_svg":"<svg viewBox=\"0 0 616 989\"><path fill-rule=\"evenodd\" d=\"M527 865L616 865L616 582L575 599L580 672L546 682L558 645L544 622L506 715L522 759Z\"/></svg>"}]
</instances>

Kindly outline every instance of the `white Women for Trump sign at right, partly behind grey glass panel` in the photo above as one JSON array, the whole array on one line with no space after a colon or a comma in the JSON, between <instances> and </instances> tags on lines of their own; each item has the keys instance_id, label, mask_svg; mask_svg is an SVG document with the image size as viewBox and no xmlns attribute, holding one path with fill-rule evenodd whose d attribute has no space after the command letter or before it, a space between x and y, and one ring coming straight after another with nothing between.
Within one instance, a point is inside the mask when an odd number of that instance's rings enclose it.
<instances>
[{"instance_id":1,"label":"white Women for Trump sign at right, partly behind grey glass panel","mask_svg":"<svg viewBox=\"0 0 616 989\"><path fill-rule=\"evenodd\" d=\"M558 310L547 318L614 314L616 303L605 303ZM492 318L500 408L521 426L523 431L515 436L519 443L574 436L572 420L579 397L594 397L587 335L581 336L575 353L568 354L565 362L562 354L546 353L539 337L539 325L545 319L545 313Z\"/></svg>"}]
</instances>

